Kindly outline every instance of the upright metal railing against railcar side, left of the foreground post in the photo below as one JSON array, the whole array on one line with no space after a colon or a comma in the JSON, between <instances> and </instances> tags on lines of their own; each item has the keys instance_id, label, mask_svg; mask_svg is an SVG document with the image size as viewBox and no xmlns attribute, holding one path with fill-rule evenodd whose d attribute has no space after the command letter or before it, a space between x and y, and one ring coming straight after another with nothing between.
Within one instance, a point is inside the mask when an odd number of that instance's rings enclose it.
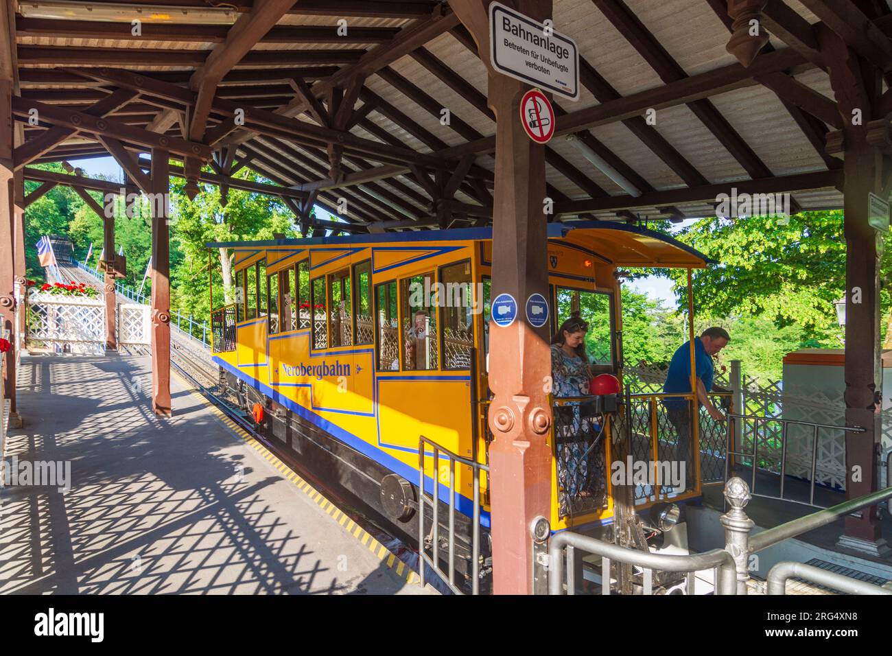
<instances>
[{"instance_id":1,"label":"upright metal railing against railcar side, left of the foreground post","mask_svg":"<svg viewBox=\"0 0 892 656\"><path fill-rule=\"evenodd\" d=\"M434 452L434 485L431 494L425 492L425 444ZM442 455L449 459L449 534L447 536L447 572L444 574L440 568L440 511L439 511L439 488L440 483L440 459ZM443 448L426 438L418 437L418 574L421 578L421 585L425 585L425 563L430 565L431 569L442 578L450 590L456 594L465 594L455 583L455 504L458 491L455 485L455 468L456 463L467 466L471 469L472 486L473 486L473 510L472 510L472 526L471 526L471 594L480 594L480 472L489 472L490 468L481 462L477 462L476 458L468 459L452 453L449 449ZM425 535L425 504L429 504L432 510L432 527L433 534L431 539L431 555L427 555L425 543L427 536Z\"/></svg>"}]
</instances>

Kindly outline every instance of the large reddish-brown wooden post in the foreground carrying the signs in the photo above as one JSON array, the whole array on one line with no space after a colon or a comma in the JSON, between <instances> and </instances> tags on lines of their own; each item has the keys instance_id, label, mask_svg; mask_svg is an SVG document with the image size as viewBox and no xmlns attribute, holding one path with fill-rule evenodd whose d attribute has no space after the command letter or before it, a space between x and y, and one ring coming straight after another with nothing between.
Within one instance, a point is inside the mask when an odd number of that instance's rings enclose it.
<instances>
[{"instance_id":1,"label":"large reddish-brown wooden post in the foreground carrying the signs","mask_svg":"<svg viewBox=\"0 0 892 656\"><path fill-rule=\"evenodd\" d=\"M477 42L489 66L485 0L450 6ZM516 9L537 20L551 16L550 0L519 0ZM493 588L496 594L532 594L533 519L550 517L551 376L548 327L533 328L526 299L548 298L547 216L543 213L545 148L533 144L518 117L529 88L490 68L488 103L496 115L495 202L492 224L492 298L514 297L517 318L490 326L489 383L494 394L489 424Z\"/></svg>"}]
</instances>

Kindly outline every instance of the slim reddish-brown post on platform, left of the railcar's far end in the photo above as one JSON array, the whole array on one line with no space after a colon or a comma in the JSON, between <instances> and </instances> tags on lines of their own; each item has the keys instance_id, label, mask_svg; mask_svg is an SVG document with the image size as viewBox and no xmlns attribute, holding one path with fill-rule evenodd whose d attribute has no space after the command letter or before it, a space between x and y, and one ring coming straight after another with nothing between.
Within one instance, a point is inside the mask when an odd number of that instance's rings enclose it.
<instances>
[{"instance_id":1,"label":"slim reddish-brown post on platform, left of the railcar's far end","mask_svg":"<svg viewBox=\"0 0 892 656\"><path fill-rule=\"evenodd\" d=\"M152 150L152 410L170 411L169 154Z\"/></svg>"}]
</instances>

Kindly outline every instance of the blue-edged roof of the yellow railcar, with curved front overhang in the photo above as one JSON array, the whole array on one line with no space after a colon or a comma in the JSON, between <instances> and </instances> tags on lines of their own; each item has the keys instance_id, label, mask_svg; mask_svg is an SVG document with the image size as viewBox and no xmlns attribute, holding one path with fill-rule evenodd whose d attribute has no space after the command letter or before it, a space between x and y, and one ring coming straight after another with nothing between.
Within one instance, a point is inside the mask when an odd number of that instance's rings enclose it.
<instances>
[{"instance_id":1,"label":"blue-edged roof of the yellow railcar, with curved front overhang","mask_svg":"<svg viewBox=\"0 0 892 656\"><path fill-rule=\"evenodd\" d=\"M717 261L664 233L631 224L606 221L577 221L572 224L549 223L549 239L566 240L582 246L601 262L622 267L693 267L703 268ZM392 242L488 241L492 228L450 228L417 232L351 235L345 237L309 237L305 239L267 239L261 241L208 242L208 248L232 248L247 251L277 246L324 246L343 244L382 244Z\"/></svg>"}]
</instances>

